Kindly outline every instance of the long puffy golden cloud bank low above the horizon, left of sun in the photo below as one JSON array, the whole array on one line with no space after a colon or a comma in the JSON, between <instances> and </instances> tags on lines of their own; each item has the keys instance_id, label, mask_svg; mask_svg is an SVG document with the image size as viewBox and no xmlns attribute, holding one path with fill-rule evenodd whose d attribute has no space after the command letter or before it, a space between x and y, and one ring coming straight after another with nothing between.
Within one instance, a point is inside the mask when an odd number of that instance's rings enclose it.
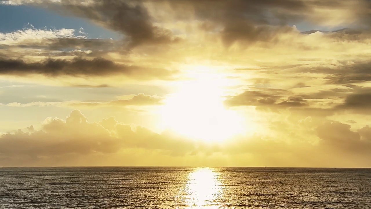
<instances>
[{"instance_id":1,"label":"long puffy golden cloud bank low above the horizon, left of sun","mask_svg":"<svg viewBox=\"0 0 371 209\"><path fill-rule=\"evenodd\" d=\"M112 154L128 148L161 150L170 155L184 155L196 149L191 141L124 125L114 118L89 123L79 110L73 110L65 120L48 118L39 131L31 126L27 132L18 130L0 136L0 156L20 157L24 161L70 154Z\"/></svg>"}]
</instances>

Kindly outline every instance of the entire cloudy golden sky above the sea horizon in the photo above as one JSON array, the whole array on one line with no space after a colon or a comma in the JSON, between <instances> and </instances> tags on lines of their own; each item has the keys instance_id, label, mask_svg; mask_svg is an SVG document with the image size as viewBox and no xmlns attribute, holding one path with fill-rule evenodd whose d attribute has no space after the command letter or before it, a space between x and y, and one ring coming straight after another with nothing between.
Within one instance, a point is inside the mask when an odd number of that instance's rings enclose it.
<instances>
[{"instance_id":1,"label":"entire cloudy golden sky above the sea horizon","mask_svg":"<svg viewBox=\"0 0 371 209\"><path fill-rule=\"evenodd\" d=\"M369 0L0 0L0 166L371 167Z\"/></svg>"}]
</instances>

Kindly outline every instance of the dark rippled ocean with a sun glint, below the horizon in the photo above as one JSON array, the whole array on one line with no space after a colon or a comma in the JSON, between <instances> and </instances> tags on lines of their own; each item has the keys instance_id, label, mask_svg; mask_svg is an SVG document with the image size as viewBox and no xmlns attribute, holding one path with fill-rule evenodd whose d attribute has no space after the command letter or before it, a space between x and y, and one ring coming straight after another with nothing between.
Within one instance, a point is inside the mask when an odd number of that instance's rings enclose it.
<instances>
[{"instance_id":1,"label":"dark rippled ocean with a sun glint, below the horizon","mask_svg":"<svg viewBox=\"0 0 371 209\"><path fill-rule=\"evenodd\" d=\"M0 168L1 209L371 209L371 169Z\"/></svg>"}]
</instances>

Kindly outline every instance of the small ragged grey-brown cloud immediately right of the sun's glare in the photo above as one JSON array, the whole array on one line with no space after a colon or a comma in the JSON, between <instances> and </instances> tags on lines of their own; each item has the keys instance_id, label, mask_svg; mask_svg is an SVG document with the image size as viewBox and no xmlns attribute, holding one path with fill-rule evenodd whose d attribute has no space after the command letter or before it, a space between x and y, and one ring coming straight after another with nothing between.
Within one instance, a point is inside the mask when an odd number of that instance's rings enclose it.
<instances>
[{"instance_id":1,"label":"small ragged grey-brown cloud immediately right of the sun's glare","mask_svg":"<svg viewBox=\"0 0 371 209\"><path fill-rule=\"evenodd\" d=\"M274 93L274 92L271 92ZM285 97L282 94L263 93L262 91L245 91L225 101L227 106L257 106L257 107L302 107L307 102L301 97Z\"/></svg>"}]
</instances>

